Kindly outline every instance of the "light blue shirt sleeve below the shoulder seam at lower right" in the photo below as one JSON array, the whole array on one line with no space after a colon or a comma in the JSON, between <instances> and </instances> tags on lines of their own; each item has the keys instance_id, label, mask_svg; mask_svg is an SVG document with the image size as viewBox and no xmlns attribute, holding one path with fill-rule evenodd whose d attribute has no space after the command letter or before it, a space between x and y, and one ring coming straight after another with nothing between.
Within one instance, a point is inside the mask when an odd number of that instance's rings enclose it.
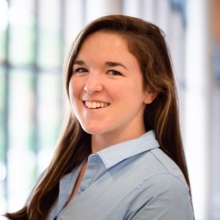
<instances>
[{"instance_id":1,"label":"light blue shirt sleeve below the shoulder seam at lower right","mask_svg":"<svg viewBox=\"0 0 220 220\"><path fill-rule=\"evenodd\" d=\"M131 202L126 220L193 220L188 186L171 174L146 180Z\"/></svg>"}]
</instances>

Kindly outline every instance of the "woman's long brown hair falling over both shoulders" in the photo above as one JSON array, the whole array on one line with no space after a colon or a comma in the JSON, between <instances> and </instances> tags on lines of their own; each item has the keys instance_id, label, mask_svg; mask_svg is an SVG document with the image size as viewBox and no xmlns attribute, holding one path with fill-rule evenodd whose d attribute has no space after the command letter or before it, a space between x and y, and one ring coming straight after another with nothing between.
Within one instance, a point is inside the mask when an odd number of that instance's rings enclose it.
<instances>
[{"instance_id":1,"label":"woman's long brown hair falling over both shoulders","mask_svg":"<svg viewBox=\"0 0 220 220\"><path fill-rule=\"evenodd\" d=\"M139 61L144 85L158 91L156 99L146 105L146 130L154 130L161 149L182 170L190 189L179 126L175 79L164 33L155 25L141 19L109 15L87 25L73 43L64 66L66 93L75 60L85 39L94 32L104 31L123 37L129 51ZM27 205L16 213L7 213L10 219L46 219L59 193L59 181L91 153L91 136L82 130L73 112L69 110L54 157L44 177L36 187Z\"/></svg>"}]
</instances>

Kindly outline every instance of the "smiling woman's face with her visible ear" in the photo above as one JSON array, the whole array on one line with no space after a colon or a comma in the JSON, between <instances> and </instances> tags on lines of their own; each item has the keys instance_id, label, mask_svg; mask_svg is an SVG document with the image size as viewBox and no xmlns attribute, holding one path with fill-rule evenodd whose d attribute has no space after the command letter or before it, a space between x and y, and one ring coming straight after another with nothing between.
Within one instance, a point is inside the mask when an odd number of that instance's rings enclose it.
<instances>
[{"instance_id":1,"label":"smiling woman's face with her visible ear","mask_svg":"<svg viewBox=\"0 0 220 220\"><path fill-rule=\"evenodd\" d=\"M153 97L143 88L137 59L117 34L96 32L84 41L73 64L69 96L87 133L139 136L145 132L145 104Z\"/></svg>"}]
</instances>

